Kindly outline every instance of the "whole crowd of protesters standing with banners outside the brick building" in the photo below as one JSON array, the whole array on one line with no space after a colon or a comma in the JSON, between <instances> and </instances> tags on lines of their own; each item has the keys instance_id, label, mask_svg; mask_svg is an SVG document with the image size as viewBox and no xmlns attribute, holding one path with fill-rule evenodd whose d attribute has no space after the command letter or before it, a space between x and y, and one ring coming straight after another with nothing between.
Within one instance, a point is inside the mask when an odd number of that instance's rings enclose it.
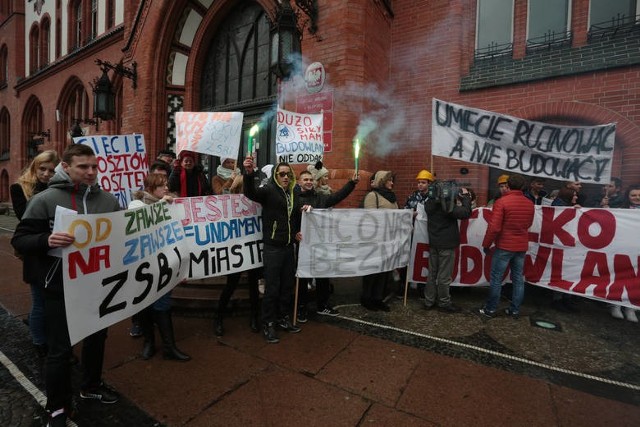
<instances>
[{"instance_id":1,"label":"whole crowd of protesters standing with banners outside the brick building","mask_svg":"<svg viewBox=\"0 0 640 427\"><path fill-rule=\"evenodd\" d=\"M73 147L73 146L72 146ZM55 170L55 171L54 171ZM66 233L52 232L50 218L56 203L63 194L78 186L86 188L93 200L85 204L85 212L110 212L118 210L117 202L96 184L96 160L89 147L70 148L62 162L53 151L36 156L18 181L11 186L11 197L16 215L21 220L12 243L24 260L24 280L31 287L32 309L29 315L30 331L37 353L46 359L47 409L51 425L61 424L72 411L69 365L71 346L66 335L63 289L58 264L47 254L52 247L73 242ZM301 331L299 324L307 322L311 311L318 315L337 316L339 311L330 303L332 285L328 278L317 277L300 281L300 296L294 307L293 295L296 270L296 246L304 238L299 232L302 212L314 208L329 208L347 198L356 188L360 177L357 172L337 191L330 186L329 170L321 163L309 165L298 176L287 163L267 165L258 169L251 157L244 159L242 169L232 158L221 159L211 179L208 179L200 163L199 155L183 151L176 159L170 150L163 150L150 165L144 180L144 189L134 193L129 209L145 204L172 203L175 197L203 196L210 194L243 193L262 205L263 260L264 267L226 277L226 285L220 295L214 315L213 330L216 336L225 334L224 318L228 305L242 277L247 278L251 314L249 327L252 332L262 332L268 343L279 342L278 330L289 333ZM442 313L457 313L460 308L453 303L449 292L454 271L455 251L460 245L459 221L469 218L476 207L476 194L471 188L461 186L458 194L447 207L433 197L438 180L435 174L424 169L416 176L417 189L401 204L394 192L395 176L392 171L380 170L373 174L361 207L366 209L411 209L414 220L427 219L429 249L429 275L426 284L419 285L425 310L438 309ZM517 319L525 298L524 259L528 249L528 229L533 223L534 206L598 207L603 209L640 209L640 185L623 190L622 181L612 178L602 187L602 193L588 201L578 181L568 181L559 188L545 188L545 180L533 177L527 182L517 174L501 175L497 179L497 191L490 197L487 207L493 210L482 246L492 255L490 286L485 304L476 310L484 318L498 315L502 283L507 267L510 269L512 296L504 310L507 316ZM47 190L51 188L52 190ZM42 193L42 194L40 194ZM74 205L75 206L75 205ZM75 206L77 208L77 206ZM82 212L81 212L82 213ZM46 269L45 269L46 267ZM51 282L53 271L55 286L45 289ZM392 275L394 274L394 275ZM360 304L366 310L391 310L389 295L398 294L404 288L406 268L396 272L382 272L362 277ZM400 286L393 289L394 280ZM259 282L264 280L260 300ZM408 283L408 282L407 282ZM315 289L315 301L311 290ZM554 309L574 313L578 311L576 297L554 291L550 302ZM610 305L611 316L638 322L636 311L619 305ZM148 360L156 353L155 328L163 343L163 357L188 361L191 357L176 346L172 320L171 296L167 293L151 306L132 318L130 335L144 337L142 358ZM85 378L80 396L103 403L113 403L117 394L103 385L101 369L106 330L84 340L83 366ZM57 424L56 424L57 422Z\"/></svg>"}]
</instances>

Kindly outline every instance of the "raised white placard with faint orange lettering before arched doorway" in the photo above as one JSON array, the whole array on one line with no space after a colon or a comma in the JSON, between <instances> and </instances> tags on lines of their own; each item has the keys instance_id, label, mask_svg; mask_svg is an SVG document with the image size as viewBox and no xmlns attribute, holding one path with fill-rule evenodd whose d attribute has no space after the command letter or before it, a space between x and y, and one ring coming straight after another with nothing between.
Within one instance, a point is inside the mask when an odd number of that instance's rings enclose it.
<instances>
[{"instance_id":1,"label":"raised white placard with faint orange lettering before arched doorway","mask_svg":"<svg viewBox=\"0 0 640 427\"><path fill-rule=\"evenodd\" d=\"M176 149L235 159L240 151L240 112L186 112L176 115Z\"/></svg>"}]
</instances>

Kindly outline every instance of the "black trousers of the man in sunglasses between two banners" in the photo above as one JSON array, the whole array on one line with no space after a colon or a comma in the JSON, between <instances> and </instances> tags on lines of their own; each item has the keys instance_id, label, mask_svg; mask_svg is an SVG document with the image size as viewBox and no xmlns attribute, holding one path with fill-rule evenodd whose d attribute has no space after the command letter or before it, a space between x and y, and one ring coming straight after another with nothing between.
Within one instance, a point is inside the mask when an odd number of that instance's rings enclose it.
<instances>
[{"instance_id":1,"label":"black trousers of the man in sunglasses between two banners","mask_svg":"<svg viewBox=\"0 0 640 427\"><path fill-rule=\"evenodd\" d=\"M264 245L264 297L262 298L262 322L267 324L288 315L295 283L296 265L293 245Z\"/></svg>"}]
</instances>

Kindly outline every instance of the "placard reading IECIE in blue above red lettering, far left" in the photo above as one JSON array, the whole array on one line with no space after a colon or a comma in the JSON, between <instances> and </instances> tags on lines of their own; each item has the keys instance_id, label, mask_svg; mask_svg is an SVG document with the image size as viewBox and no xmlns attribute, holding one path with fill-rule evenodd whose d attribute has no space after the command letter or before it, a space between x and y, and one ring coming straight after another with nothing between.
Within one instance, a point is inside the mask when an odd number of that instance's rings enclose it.
<instances>
[{"instance_id":1,"label":"placard reading IECIE in blue above red lettering, far left","mask_svg":"<svg viewBox=\"0 0 640 427\"><path fill-rule=\"evenodd\" d=\"M144 187L149 173L144 135L92 135L73 138L75 144L93 148L98 159L98 184L126 209L131 193Z\"/></svg>"}]
</instances>

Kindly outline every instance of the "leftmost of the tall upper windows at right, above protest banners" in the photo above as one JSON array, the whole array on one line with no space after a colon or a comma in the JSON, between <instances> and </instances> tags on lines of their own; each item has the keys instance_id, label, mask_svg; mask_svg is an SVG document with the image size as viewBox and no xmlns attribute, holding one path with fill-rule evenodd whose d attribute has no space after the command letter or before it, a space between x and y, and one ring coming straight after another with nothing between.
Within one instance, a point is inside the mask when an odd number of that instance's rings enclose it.
<instances>
[{"instance_id":1,"label":"leftmost of the tall upper windows at right, above protest banners","mask_svg":"<svg viewBox=\"0 0 640 427\"><path fill-rule=\"evenodd\" d=\"M511 53L513 0L478 0L476 56Z\"/></svg>"}]
</instances>

